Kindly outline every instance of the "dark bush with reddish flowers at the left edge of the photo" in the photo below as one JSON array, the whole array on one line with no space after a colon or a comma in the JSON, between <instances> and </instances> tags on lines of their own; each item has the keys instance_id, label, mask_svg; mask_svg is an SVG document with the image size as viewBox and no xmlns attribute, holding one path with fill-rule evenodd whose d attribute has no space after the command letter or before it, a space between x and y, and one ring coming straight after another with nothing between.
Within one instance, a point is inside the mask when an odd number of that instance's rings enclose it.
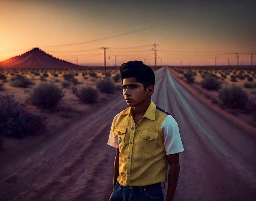
<instances>
[{"instance_id":1,"label":"dark bush with reddish flowers at the left edge of the photo","mask_svg":"<svg viewBox=\"0 0 256 201\"><path fill-rule=\"evenodd\" d=\"M46 127L45 115L26 111L25 105L16 102L13 95L0 95L0 135L23 138L34 135Z\"/></svg>"}]
</instances>

